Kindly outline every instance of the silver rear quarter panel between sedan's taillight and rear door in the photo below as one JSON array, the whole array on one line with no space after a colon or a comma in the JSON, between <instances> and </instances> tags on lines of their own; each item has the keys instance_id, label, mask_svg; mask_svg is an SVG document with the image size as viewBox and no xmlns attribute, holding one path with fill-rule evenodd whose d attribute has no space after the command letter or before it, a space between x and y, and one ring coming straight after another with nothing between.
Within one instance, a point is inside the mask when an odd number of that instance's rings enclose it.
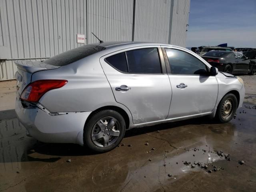
<instances>
[{"instance_id":1,"label":"silver rear quarter panel between sedan's taillight and rear door","mask_svg":"<svg viewBox=\"0 0 256 192\"><path fill-rule=\"evenodd\" d=\"M116 106L100 62L94 56L32 75L32 82L40 79L68 80L65 86L50 90L40 99L39 102L50 112L94 111L102 106Z\"/></svg>"}]
</instances>

